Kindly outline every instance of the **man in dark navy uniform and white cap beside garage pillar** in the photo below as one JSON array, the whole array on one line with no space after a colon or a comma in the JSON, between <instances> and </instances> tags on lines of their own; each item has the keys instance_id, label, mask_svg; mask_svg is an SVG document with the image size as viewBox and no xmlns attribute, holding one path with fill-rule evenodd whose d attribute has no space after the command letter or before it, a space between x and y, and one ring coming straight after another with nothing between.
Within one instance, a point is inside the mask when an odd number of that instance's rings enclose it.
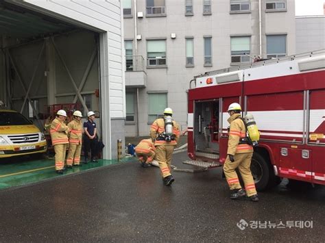
<instances>
[{"instance_id":1,"label":"man in dark navy uniform and white cap beside garage pillar","mask_svg":"<svg viewBox=\"0 0 325 243\"><path fill-rule=\"evenodd\" d=\"M84 122L84 164L88 164L88 153L91 151L91 162L97 162L95 160L96 154L96 123L95 112L88 112L88 120Z\"/></svg>"}]
</instances>

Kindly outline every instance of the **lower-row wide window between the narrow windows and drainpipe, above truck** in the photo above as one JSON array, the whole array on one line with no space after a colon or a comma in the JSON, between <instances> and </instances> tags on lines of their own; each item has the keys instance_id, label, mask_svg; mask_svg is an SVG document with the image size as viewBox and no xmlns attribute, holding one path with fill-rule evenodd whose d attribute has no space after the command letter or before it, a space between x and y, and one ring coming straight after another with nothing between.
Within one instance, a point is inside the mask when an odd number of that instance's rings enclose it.
<instances>
[{"instance_id":1,"label":"lower-row wide window between the narrow windows and drainpipe, above truck","mask_svg":"<svg viewBox=\"0 0 325 243\"><path fill-rule=\"evenodd\" d=\"M250 36L231 37L231 62L250 62Z\"/></svg>"}]
</instances>

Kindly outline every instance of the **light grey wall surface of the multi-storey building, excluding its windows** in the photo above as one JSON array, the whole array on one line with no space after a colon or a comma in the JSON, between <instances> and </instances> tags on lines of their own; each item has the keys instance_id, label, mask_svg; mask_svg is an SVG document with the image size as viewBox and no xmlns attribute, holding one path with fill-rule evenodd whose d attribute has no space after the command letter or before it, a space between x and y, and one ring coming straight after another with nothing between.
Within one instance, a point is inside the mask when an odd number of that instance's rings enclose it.
<instances>
[{"instance_id":1,"label":"light grey wall surface of the multi-storey building, excluding its windows","mask_svg":"<svg viewBox=\"0 0 325 243\"><path fill-rule=\"evenodd\" d=\"M145 68L147 87L139 92L139 130L142 136L148 135L149 129L147 92L167 90L167 105L173 109L175 120L184 130L189 81L200 73L230 66L230 36L251 36L251 55L259 54L258 0L251 1L251 11L245 14L230 14L230 1L211 1L212 14L203 15L202 2L193 1L193 16L185 16L184 1L166 0L165 17L146 17L145 1L136 1L136 12L144 15L136 18L137 34L142 36L142 40L137 41L138 54L147 58L147 38L166 39L167 45L167 68ZM285 12L265 12L265 0L262 0L261 10L263 57L266 57L266 34L287 34L287 55L295 53L294 1L287 0ZM133 18L124 18L124 34L128 40L135 39L134 15ZM176 33L176 39L171 39L171 33ZM185 38L190 36L194 38L194 67L186 68ZM204 66L204 36L212 36L212 67ZM136 125L125 127L127 136L136 135Z\"/></svg>"}]
</instances>

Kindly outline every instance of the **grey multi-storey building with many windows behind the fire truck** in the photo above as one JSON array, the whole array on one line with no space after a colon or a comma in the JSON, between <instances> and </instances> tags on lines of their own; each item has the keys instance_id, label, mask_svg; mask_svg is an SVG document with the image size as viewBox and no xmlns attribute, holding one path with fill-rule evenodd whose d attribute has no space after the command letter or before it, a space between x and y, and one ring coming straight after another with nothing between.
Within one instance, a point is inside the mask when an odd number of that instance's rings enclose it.
<instances>
[{"instance_id":1,"label":"grey multi-storey building with many windows behind the fire truck","mask_svg":"<svg viewBox=\"0 0 325 243\"><path fill-rule=\"evenodd\" d=\"M296 51L294 0L122 2L126 136L147 136L167 106L184 131L193 76Z\"/></svg>"}]
</instances>

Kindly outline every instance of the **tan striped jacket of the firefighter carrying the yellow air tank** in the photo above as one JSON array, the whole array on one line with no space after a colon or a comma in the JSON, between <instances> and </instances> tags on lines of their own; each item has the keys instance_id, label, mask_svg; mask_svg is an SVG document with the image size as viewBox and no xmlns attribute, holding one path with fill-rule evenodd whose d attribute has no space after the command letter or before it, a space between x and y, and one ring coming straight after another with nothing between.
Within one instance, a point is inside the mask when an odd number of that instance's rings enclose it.
<instances>
[{"instance_id":1,"label":"tan striped jacket of the firefighter carrying the yellow air tank","mask_svg":"<svg viewBox=\"0 0 325 243\"><path fill-rule=\"evenodd\" d=\"M249 144L239 144L240 138L245 138L246 129L243 120L239 119L240 114L233 114L228 118L230 123L230 131L228 138L228 155L234 155L235 153L251 153L253 147ZM238 118L238 119L237 119Z\"/></svg>"}]
</instances>

